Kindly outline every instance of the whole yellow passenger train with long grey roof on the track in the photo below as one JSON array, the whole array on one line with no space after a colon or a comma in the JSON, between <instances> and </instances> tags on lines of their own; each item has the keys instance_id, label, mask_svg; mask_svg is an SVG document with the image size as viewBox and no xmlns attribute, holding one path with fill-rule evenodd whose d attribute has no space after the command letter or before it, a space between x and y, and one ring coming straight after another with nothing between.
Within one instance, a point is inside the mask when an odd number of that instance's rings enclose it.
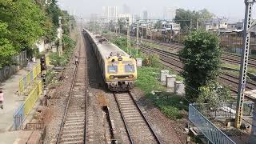
<instances>
[{"instance_id":1,"label":"whole yellow passenger train with long grey roof on the track","mask_svg":"<svg viewBox=\"0 0 256 144\"><path fill-rule=\"evenodd\" d=\"M131 90L137 79L136 60L99 34L83 30L93 46L102 76L112 91Z\"/></svg>"}]
</instances>

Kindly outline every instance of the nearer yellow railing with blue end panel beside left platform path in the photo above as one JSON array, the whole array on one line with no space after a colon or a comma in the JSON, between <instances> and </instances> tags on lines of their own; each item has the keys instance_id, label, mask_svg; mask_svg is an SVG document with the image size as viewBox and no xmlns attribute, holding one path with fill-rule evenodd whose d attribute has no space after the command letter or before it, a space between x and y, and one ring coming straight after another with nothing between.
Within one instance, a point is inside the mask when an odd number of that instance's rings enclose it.
<instances>
[{"instance_id":1,"label":"nearer yellow railing with blue end panel beside left platform path","mask_svg":"<svg viewBox=\"0 0 256 144\"><path fill-rule=\"evenodd\" d=\"M42 81L40 80L34 89L30 91L30 94L26 98L25 102L22 102L21 106L14 113L14 130L22 129L22 123L26 118L26 115L30 113L30 110L34 107L35 102L38 101L39 96L42 94Z\"/></svg>"}]
</instances>

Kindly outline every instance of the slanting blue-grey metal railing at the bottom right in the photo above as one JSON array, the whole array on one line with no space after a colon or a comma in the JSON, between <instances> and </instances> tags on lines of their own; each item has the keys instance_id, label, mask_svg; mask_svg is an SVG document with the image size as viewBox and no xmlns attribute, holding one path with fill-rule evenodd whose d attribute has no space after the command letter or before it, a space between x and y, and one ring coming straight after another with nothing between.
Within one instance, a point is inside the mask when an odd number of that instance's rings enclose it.
<instances>
[{"instance_id":1,"label":"slanting blue-grey metal railing at the bottom right","mask_svg":"<svg viewBox=\"0 0 256 144\"><path fill-rule=\"evenodd\" d=\"M195 107L194 104L189 106L189 119L202 131L202 134L214 144L234 144L234 142L219 130L213 123L205 118Z\"/></svg>"}]
</instances>

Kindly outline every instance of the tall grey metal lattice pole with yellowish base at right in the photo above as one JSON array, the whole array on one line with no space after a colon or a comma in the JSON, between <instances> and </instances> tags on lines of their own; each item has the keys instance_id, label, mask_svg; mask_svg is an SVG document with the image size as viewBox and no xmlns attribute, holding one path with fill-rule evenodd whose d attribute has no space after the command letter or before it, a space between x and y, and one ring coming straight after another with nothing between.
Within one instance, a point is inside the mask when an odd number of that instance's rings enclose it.
<instances>
[{"instance_id":1,"label":"tall grey metal lattice pole with yellowish base at right","mask_svg":"<svg viewBox=\"0 0 256 144\"><path fill-rule=\"evenodd\" d=\"M239 86L238 86L238 101L236 108L236 117L235 117L235 127L239 128L242 123L242 109L244 102L244 91L246 90L246 73L247 73L247 65L248 65L248 57L249 57L249 48L250 48L250 32L255 26L255 22L252 23L252 7L256 0L245 0L246 4L246 14L244 20L244 30L243 30L243 50L241 57L241 65L240 65L240 77L239 77ZM254 118L253 124L256 123L256 115L254 110ZM255 126L255 125L254 125ZM252 133L255 133L255 127L252 127Z\"/></svg>"}]
</instances>

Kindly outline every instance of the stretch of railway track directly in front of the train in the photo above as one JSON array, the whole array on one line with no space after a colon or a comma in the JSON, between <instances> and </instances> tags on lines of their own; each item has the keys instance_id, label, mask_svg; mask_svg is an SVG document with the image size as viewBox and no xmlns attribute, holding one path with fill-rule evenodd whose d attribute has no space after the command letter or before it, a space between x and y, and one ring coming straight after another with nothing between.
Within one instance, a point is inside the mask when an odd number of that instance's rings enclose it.
<instances>
[{"instance_id":1,"label":"stretch of railway track directly in front of the train","mask_svg":"<svg viewBox=\"0 0 256 144\"><path fill-rule=\"evenodd\" d=\"M135 102L133 94L114 93L130 143L162 143Z\"/></svg>"}]
</instances>

